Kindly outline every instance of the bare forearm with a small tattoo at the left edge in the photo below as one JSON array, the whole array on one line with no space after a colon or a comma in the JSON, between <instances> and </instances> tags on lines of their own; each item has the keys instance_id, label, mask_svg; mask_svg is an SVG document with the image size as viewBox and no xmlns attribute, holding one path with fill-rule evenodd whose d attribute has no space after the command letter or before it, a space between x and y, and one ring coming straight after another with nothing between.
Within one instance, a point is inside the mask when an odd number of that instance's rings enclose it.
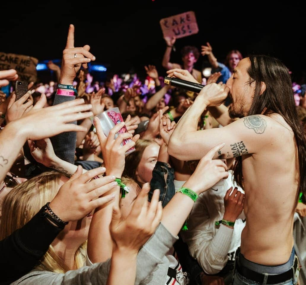
<instances>
[{"instance_id":1,"label":"bare forearm with a small tattoo at the left edge","mask_svg":"<svg viewBox=\"0 0 306 285\"><path fill-rule=\"evenodd\" d=\"M4 180L27 140L17 121L7 124L0 133L0 181Z\"/></svg>"}]
</instances>

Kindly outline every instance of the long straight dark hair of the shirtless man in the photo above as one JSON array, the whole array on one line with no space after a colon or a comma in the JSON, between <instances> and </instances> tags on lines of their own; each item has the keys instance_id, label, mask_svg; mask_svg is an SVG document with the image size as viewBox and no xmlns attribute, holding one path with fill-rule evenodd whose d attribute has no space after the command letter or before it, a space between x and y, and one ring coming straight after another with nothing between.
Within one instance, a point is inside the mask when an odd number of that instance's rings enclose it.
<instances>
[{"instance_id":1,"label":"long straight dark hair of the shirtless man","mask_svg":"<svg viewBox=\"0 0 306 285\"><path fill-rule=\"evenodd\" d=\"M268 115L277 113L281 115L292 128L297 143L300 164L300 192L306 196L306 140L304 130L297 116L294 103L292 82L286 66L277 58L265 55L252 55L249 57L251 65L248 68L249 84L256 82L255 94L250 115ZM266 84L266 90L260 95L261 82ZM248 84L247 83L247 84ZM242 159L236 157L234 177L241 186Z\"/></svg>"}]
</instances>

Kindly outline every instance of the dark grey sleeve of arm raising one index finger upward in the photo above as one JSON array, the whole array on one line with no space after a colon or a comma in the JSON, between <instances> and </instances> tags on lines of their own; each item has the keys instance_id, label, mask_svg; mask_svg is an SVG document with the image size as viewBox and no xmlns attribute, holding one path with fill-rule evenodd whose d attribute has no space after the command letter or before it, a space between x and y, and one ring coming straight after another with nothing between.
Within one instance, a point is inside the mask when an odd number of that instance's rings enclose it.
<instances>
[{"instance_id":1,"label":"dark grey sleeve of arm raising one index finger upward","mask_svg":"<svg viewBox=\"0 0 306 285\"><path fill-rule=\"evenodd\" d=\"M72 101L75 96L55 95L53 106L67 101ZM76 121L71 122L76 124ZM60 159L74 164L74 151L76 148L76 132L60 133L54 137L50 137L54 152Z\"/></svg>"}]
</instances>

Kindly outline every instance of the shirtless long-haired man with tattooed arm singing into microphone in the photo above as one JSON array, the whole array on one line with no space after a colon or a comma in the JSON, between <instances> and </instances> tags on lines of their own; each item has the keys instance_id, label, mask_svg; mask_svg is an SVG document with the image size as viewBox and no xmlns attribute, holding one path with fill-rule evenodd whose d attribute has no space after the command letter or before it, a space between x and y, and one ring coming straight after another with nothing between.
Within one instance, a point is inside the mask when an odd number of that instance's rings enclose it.
<instances>
[{"instance_id":1,"label":"shirtless long-haired man with tattooed arm singing into microphone","mask_svg":"<svg viewBox=\"0 0 306 285\"><path fill-rule=\"evenodd\" d=\"M168 72L194 80L185 70ZM241 119L223 128L197 131L203 110L220 105L228 93L233 101L229 116ZM226 85L205 86L178 122L168 152L180 160L200 159L222 142L225 146L214 158L236 157L235 178L245 190L247 222L233 284L283 284L287 280L296 284L293 214L299 192L306 190L306 142L289 73L279 60L244 58Z\"/></svg>"}]
</instances>

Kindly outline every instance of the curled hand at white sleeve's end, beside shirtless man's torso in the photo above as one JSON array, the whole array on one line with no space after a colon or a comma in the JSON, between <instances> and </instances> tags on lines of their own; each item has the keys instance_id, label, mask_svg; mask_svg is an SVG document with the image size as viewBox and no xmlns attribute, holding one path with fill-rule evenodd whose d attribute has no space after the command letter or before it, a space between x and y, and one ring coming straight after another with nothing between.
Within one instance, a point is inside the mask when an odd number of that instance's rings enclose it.
<instances>
[{"instance_id":1,"label":"curled hand at white sleeve's end, beside shirtless man's torso","mask_svg":"<svg viewBox=\"0 0 306 285\"><path fill-rule=\"evenodd\" d=\"M232 190L233 187L228 189L224 196L225 212L223 219L230 222L235 222L243 210L244 194L238 191L237 187L235 187L232 194L230 194Z\"/></svg>"}]
</instances>

